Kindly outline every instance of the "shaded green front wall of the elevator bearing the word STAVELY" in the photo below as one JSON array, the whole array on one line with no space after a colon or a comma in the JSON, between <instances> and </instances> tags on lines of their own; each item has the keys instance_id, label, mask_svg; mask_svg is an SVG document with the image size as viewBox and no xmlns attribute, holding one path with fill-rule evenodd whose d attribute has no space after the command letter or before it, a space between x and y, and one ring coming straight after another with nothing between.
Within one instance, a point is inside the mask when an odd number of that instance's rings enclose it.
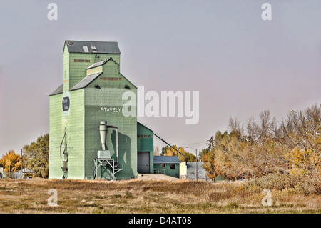
<instances>
[{"instance_id":1,"label":"shaded green front wall of the elevator bearing the word STAVELY","mask_svg":"<svg viewBox=\"0 0 321 228\"><path fill-rule=\"evenodd\" d=\"M101 111L101 107L115 107L121 109L121 100L125 89L85 89L86 92L86 177L93 176L93 157L101 150L99 134L100 121L107 121L108 125L117 126L119 164L123 170L116 174L118 179L137 177L137 117L123 117L121 111ZM136 93L136 89L135 89ZM116 161L116 130L108 129L106 144L111 156Z\"/></svg>"}]
</instances>

